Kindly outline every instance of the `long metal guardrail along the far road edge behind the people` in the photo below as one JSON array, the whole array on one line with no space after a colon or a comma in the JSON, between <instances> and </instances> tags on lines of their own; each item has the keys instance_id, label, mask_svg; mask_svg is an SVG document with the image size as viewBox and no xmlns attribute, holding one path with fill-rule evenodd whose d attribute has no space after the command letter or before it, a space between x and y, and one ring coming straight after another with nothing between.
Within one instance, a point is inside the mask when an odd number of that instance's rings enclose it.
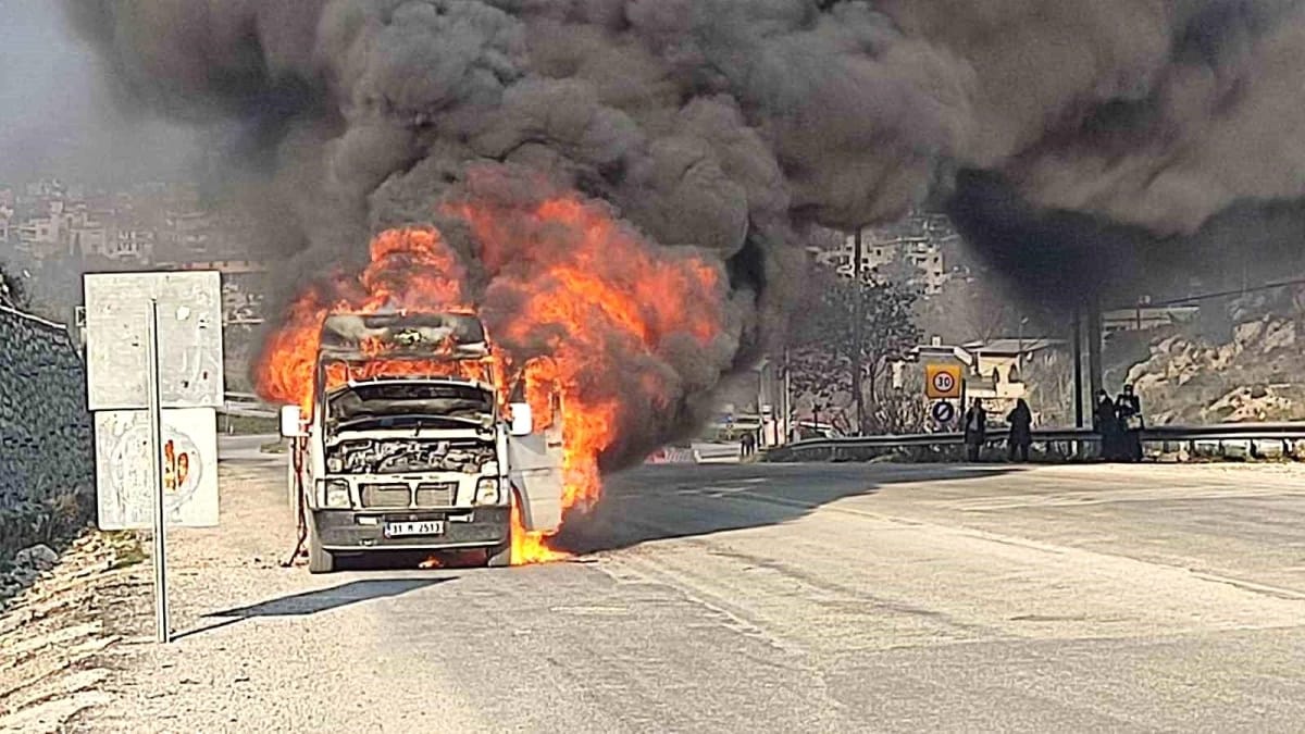
<instances>
[{"instance_id":1,"label":"long metal guardrail along the far road edge behind the people","mask_svg":"<svg viewBox=\"0 0 1305 734\"><path fill-rule=\"evenodd\" d=\"M1009 428L988 431L987 443L1007 440ZM1034 443L1071 444L1100 443L1101 436L1092 428L1049 428L1032 431ZM1220 423L1212 426L1154 426L1142 430L1143 443L1189 444L1191 453L1197 444L1214 443L1216 452L1223 452L1224 443L1240 441L1248 453L1255 453L1254 444L1280 443L1284 455L1293 452L1296 441L1305 441L1305 422L1293 423ZM889 436L848 436L839 439L806 439L770 449L771 461L838 461L852 458L853 455L870 453L873 449L898 448L944 448L964 444L964 434L902 434ZM1263 451L1262 451L1263 453Z\"/></svg>"}]
</instances>

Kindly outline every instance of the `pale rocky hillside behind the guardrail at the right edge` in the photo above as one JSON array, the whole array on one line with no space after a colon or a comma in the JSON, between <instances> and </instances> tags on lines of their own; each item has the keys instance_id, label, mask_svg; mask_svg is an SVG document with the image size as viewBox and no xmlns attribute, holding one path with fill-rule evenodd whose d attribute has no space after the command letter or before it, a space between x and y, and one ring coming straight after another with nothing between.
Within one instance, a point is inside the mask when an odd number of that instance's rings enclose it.
<instances>
[{"instance_id":1,"label":"pale rocky hillside behind the guardrail at the right edge","mask_svg":"<svg viewBox=\"0 0 1305 734\"><path fill-rule=\"evenodd\" d=\"M1142 350L1108 346L1124 368L1107 383L1133 383L1155 424L1305 419L1305 289L1240 299L1227 312L1227 340L1190 325L1152 334Z\"/></svg>"}]
</instances>

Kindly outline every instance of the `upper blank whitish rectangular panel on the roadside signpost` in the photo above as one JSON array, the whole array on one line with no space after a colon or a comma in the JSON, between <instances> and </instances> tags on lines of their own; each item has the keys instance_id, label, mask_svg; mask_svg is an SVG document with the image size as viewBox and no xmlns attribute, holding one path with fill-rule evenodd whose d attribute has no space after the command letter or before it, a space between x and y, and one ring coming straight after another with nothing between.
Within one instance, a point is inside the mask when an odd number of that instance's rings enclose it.
<instances>
[{"instance_id":1,"label":"upper blank whitish rectangular panel on the roadside signpost","mask_svg":"<svg viewBox=\"0 0 1305 734\"><path fill-rule=\"evenodd\" d=\"M90 410L134 410L146 394L150 298L158 299L163 407L222 406L222 279L217 272L85 278Z\"/></svg>"}]
</instances>

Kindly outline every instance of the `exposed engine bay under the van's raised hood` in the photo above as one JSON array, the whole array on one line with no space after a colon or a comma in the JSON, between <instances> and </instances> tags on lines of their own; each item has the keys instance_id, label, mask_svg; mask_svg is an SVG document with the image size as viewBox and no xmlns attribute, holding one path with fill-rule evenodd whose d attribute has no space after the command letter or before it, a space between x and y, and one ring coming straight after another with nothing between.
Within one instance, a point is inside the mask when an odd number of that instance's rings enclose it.
<instances>
[{"instance_id":1,"label":"exposed engine bay under the van's raised hood","mask_svg":"<svg viewBox=\"0 0 1305 734\"><path fill-rule=\"evenodd\" d=\"M493 444L472 439L346 439L326 447L326 470L333 474L479 474L493 457Z\"/></svg>"}]
</instances>

